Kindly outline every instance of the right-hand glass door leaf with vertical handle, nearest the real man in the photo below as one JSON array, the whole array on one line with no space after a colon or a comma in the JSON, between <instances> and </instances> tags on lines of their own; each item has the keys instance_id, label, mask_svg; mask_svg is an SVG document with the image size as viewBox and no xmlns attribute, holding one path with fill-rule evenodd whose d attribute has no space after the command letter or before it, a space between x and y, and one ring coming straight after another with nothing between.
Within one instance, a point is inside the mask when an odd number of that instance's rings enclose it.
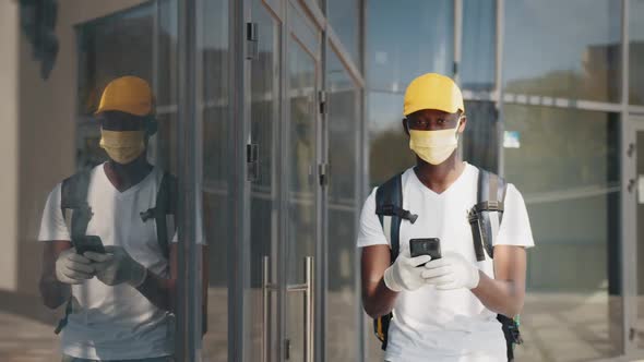
<instances>
[{"instance_id":1,"label":"right-hand glass door leaf with vertical handle, nearest the real man","mask_svg":"<svg viewBox=\"0 0 644 362\"><path fill-rule=\"evenodd\" d=\"M321 34L293 4L287 22L286 230L284 360L312 362L319 243L318 80Z\"/></svg>"}]
</instances>

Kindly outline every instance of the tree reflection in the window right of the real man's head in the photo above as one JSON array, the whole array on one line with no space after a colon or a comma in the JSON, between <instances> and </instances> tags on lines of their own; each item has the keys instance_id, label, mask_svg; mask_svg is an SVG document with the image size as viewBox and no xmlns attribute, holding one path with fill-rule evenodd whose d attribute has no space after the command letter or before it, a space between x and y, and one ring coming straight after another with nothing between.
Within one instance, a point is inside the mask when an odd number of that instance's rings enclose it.
<instances>
[{"instance_id":1,"label":"tree reflection in the window right of the real man's head","mask_svg":"<svg viewBox=\"0 0 644 362\"><path fill-rule=\"evenodd\" d=\"M617 180L617 119L605 112L505 105L505 129L521 147L505 149L506 177L524 192L547 192Z\"/></svg>"}]
</instances>

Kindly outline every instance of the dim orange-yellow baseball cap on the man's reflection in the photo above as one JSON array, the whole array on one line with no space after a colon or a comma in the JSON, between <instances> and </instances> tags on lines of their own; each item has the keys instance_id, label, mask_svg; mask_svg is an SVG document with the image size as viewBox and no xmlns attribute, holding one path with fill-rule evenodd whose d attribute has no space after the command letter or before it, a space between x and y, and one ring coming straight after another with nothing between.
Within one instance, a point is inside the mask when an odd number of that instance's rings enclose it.
<instances>
[{"instance_id":1,"label":"dim orange-yellow baseball cap on the man's reflection","mask_svg":"<svg viewBox=\"0 0 644 362\"><path fill-rule=\"evenodd\" d=\"M147 116L152 113L152 104L150 84L138 76L127 75L109 82L94 114L118 110L134 116Z\"/></svg>"}]
</instances>

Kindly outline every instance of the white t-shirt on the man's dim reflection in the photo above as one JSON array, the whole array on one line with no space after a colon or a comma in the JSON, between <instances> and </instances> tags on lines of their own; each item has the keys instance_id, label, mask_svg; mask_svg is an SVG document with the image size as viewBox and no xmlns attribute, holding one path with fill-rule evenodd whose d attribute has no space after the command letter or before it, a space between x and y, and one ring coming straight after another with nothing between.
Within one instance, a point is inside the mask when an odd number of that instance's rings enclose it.
<instances>
[{"instance_id":1,"label":"white t-shirt on the man's dim reflection","mask_svg":"<svg viewBox=\"0 0 644 362\"><path fill-rule=\"evenodd\" d=\"M140 213L154 207L163 171L154 168L141 182L119 192L104 166L92 170L87 202L94 215L88 236L99 236L104 245L122 246L152 273L169 277L169 264L157 242L154 218L143 221ZM59 183L47 198L39 241L70 240L60 209ZM170 228L170 226L168 226ZM169 233L170 236L172 233ZM73 313L62 329L64 354L100 360L130 360L174 353L174 316L152 304L127 283L115 287L97 278L72 286Z\"/></svg>"}]
</instances>

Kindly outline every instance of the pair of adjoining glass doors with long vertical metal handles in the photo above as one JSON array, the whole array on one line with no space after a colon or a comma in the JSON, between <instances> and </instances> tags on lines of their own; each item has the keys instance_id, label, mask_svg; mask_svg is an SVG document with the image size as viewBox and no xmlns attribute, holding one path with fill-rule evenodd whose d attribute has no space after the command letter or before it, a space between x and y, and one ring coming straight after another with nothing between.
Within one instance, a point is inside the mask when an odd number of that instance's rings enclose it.
<instances>
[{"instance_id":1,"label":"pair of adjoining glass doors with long vertical metal handles","mask_svg":"<svg viewBox=\"0 0 644 362\"><path fill-rule=\"evenodd\" d=\"M313 361L321 33L252 0L249 361ZM286 20L286 21L285 21ZM283 32L286 32L284 34Z\"/></svg>"}]
</instances>

